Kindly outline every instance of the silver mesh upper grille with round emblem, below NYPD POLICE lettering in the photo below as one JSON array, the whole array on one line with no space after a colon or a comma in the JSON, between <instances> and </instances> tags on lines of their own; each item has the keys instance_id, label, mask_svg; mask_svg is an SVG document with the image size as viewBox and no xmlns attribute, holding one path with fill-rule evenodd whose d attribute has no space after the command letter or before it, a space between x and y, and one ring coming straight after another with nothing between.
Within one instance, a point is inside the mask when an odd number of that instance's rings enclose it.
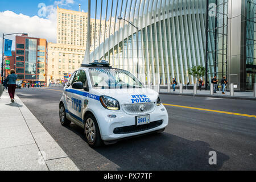
<instances>
[{"instance_id":1,"label":"silver mesh upper grille with round emblem, below NYPD POLICE lettering","mask_svg":"<svg viewBox=\"0 0 256 182\"><path fill-rule=\"evenodd\" d=\"M143 111L140 110L140 107L142 105L144 106ZM122 108L125 111L125 113L136 115L136 114L150 113L155 109L155 106L156 106L155 102L148 102L148 103L140 103L140 104L124 104Z\"/></svg>"}]
</instances>

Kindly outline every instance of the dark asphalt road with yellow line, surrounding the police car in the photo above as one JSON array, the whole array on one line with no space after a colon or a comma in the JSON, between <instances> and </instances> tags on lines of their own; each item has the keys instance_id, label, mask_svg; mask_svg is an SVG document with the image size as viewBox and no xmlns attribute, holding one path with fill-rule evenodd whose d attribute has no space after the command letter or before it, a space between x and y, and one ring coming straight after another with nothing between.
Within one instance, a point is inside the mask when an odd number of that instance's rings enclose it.
<instances>
[{"instance_id":1,"label":"dark asphalt road with yellow line, surrounding the police car","mask_svg":"<svg viewBox=\"0 0 256 182\"><path fill-rule=\"evenodd\" d=\"M161 134L90 148L83 130L59 121L63 88L23 88L16 94L81 170L256 170L256 118L167 106ZM256 115L256 102L160 95L164 104ZM217 164L209 165L216 151Z\"/></svg>"}]
</instances>

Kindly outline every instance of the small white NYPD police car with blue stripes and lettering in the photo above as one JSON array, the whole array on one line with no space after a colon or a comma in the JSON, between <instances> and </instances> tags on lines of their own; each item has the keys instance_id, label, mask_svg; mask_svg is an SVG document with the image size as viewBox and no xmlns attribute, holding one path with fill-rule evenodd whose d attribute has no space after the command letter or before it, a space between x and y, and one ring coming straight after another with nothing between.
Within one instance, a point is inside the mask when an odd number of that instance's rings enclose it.
<instances>
[{"instance_id":1,"label":"small white NYPD police car with blue stripes and lettering","mask_svg":"<svg viewBox=\"0 0 256 182\"><path fill-rule=\"evenodd\" d=\"M61 125L74 122L82 127L91 147L162 132L168 125L158 93L106 61L82 64L72 73L59 109Z\"/></svg>"}]
</instances>

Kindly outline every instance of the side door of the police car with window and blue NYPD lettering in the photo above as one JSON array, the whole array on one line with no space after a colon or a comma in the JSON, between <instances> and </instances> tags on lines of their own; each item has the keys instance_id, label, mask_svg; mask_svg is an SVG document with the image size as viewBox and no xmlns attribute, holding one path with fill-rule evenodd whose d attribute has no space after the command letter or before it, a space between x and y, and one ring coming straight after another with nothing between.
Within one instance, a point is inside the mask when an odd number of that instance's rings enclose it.
<instances>
[{"instance_id":1,"label":"side door of the police car with window and blue NYPD lettering","mask_svg":"<svg viewBox=\"0 0 256 182\"><path fill-rule=\"evenodd\" d=\"M82 69L76 72L76 75L72 80L71 86L75 82L79 82L79 81L82 82L84 87L86 86L86 82L87 82L86 74L85 74L85 71ZM84 105L84 100L85 100L85 90L72 88L70 93L71 93L71 105L69 105L69 110L70 110L69 114L71 114L71 116L75 118L77 121L80 121L81 123L83 123L82 106Z\"/></svg>"}]
</instances>

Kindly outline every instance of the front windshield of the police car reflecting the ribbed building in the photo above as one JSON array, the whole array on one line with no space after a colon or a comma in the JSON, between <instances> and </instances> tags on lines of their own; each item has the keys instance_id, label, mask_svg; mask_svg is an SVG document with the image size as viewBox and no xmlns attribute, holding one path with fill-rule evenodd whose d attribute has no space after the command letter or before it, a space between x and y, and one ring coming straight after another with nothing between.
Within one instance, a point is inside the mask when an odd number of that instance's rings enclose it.
<instances>
[{"instance_id":1,"label":"front windshield of the police car reflecting the ribbed building","mask_svg":"<svg viewBox=\"0 0 256 182\"><path fill-rule=\"evenodd\" d=\"M94 88L144 88L130 72L114 68L90 68L90 80Z\"/></svg>"}]
</instances>

